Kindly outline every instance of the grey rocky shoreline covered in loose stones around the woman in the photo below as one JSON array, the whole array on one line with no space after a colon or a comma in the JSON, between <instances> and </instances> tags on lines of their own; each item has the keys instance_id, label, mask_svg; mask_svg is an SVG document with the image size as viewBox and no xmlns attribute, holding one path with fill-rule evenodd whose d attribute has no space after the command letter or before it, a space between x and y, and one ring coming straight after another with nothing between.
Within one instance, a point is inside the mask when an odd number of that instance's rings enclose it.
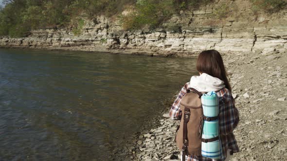
<instances>
[{"instance_id":1,"label":"grey rocky shoreline covered in loose stones around the woman","mask_svg":"<svg viewBox=\"0 0 287 161\"><path fill-rule=\"evenodd\" d=\"M240 152L231 161L286 161L287 51L266 48L257 53L223 54L223 59L240 113L234 129ZM127 161L179 161L174 143L179 121L168 118L168 108L159 127L137 134L133 145L126 147Z\"/></svg>"}]
</instances>

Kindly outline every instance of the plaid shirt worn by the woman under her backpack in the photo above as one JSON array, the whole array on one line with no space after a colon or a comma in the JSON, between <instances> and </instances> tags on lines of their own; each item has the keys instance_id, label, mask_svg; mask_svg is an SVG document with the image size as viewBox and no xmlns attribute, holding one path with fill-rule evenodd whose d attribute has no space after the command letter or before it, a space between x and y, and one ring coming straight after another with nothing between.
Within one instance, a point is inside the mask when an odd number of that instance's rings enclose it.
<instances>
[{"instance_id":1,"label":"plaid shirt worn by the woman under her backpack","mask_svg":"<svg viewBox=\"0 0 287 161\"><path fill-rule=\"evenodd\" d=\"M179 120L181 118L180 100L186 94L186 90L190 88L190 82L187 82L179 92L179 96L174 101L169 115L173 120ZM233 135L233 129L238 125L239 113L235 108L234 99L231 92L227 88L223 88L217 93L219 99L219 130L220 140L222 143L222 156L226 158L227 149L231 149L233 153L238 152L239 148L235 137ZM223 156L224 155L224 156ZM186 161L220 161L205 158L202 156L186 156ZM223 159L223 160L224 160Z\"/></svg>"}]
</instances>

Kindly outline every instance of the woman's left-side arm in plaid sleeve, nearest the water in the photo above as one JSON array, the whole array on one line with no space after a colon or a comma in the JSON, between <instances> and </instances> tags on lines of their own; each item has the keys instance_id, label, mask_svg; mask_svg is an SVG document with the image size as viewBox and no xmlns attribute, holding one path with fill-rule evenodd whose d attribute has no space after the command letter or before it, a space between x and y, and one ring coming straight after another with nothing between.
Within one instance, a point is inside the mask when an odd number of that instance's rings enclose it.
<instances>
[{"instance_id":1,"label":"woman's left-side arm in plaid sleeve, nearest the water","mask_svg":"<svg viewBox=\"0 0 287 161\"><path fill-rule=\"evenodd\" d=\"M181 118L181 110L180 110L180 101L181 98L186 94L186 89L189 88L189 82L185 83L184 86L181 88L179 92L179 96L174 101L173 105L171 106L171 109L169 111L169 116L173 120L179 120Z\"/></svg>"}]
</instances>

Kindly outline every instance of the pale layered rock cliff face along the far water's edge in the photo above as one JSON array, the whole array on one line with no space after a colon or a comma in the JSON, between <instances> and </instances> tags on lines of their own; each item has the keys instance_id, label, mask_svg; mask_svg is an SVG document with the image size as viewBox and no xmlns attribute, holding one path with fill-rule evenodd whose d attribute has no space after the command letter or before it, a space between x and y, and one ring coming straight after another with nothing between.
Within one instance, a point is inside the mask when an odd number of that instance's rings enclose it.
<instances>
[{"instance_id":1,"label":"pale layered rock cliff face along the far water's edge","mask_svg":"<svg viewBox=\"0 0 287 161\"><path fill-rule=\"evenodd\" d=\"M23 38L1 37L0 46L153 56L192 56L207 49L220 52L287 49L287 10L254 16L251 7L240 4L241 1L234 1L237 16L223 19L216 17L214 6L205 6L174 15L154 31L124 31L119 19L98 16L96 20L87 20L78 36L73 35L71 28L33 30Z\"/></svg>"}]
</instances>

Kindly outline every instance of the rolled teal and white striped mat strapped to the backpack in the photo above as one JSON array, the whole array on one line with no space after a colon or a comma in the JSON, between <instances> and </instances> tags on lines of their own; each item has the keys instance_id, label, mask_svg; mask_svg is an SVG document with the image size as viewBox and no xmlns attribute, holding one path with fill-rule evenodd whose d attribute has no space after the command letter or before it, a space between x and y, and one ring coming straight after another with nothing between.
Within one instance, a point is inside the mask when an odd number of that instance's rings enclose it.
<instances>
[{"instance_id":1,"label":"rolled teal and white striped mat strapped to the backpack","mask_svg":"<svg viewBox=\"0 0 287 161\"><path fill-rule=\"evenodd\" d=\"M215 92L202 95L201 104L203 114L207 117L215 117L219 114L218 98ZM204 120L202 128L202 138L211 139L218 136L218 119L213 121ZM221 144L219 140L214 142L201 142L201 155L211 159L220 159Z\"/></svg>"}]
</instances>

